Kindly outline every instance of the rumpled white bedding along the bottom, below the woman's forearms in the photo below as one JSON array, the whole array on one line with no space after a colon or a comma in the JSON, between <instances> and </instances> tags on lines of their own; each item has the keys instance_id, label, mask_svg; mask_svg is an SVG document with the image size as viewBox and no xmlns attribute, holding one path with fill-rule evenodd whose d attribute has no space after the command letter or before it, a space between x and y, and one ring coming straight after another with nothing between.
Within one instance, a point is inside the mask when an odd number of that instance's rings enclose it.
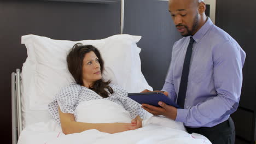
<instances>
[{"instance_id":1,"label":"rumpled white bedding along the bottom, below the woman's forearms","mask_svg":"<svg viewBox=\"0 0 256 144\"><path fill-rule=\"evenodd\" d=\"M82 133L65 135L61 127L53 120L48 123L37 123L26 127L18 144L70 144L70 143L211 143L205 136L188 134L181 127L171 128L170 125L161 123L166 121L162 117L152 117L143 128L124 131L122 133L108 134L98 130L86 130Z\"/></svg>"}]
</instances>

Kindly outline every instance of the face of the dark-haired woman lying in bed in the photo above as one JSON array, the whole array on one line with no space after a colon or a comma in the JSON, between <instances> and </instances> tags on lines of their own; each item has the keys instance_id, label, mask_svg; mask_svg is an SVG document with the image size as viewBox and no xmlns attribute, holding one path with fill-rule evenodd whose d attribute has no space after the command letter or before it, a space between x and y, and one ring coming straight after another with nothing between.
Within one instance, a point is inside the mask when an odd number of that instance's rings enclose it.
<instances>
[{"instance_id":1,"label":"face of the dark-haired woman lying in bed","mask_svg":"<svg viewBox=\"0 0 256 144\"><path fill-rule=\"evenodd\" d=\"M91 85L101 77L101 65L98 62L98 57L93 51L86 53L83 59L84 85Z\"/></svg>"}]
</instances>

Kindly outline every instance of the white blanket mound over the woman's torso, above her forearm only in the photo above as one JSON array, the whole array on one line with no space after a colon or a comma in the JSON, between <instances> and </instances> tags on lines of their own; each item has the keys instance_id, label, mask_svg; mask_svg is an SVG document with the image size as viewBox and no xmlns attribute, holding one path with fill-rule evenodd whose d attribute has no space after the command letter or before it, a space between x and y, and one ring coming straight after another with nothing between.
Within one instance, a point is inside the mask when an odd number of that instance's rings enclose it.
<instances>
[{"instance_id":1,"label":"white blanket mound over the woman's torso, above her forearm only","mask_svg":"<svg viewBox=\"0 0 256 144\"><path fill-rule=\"evenodd\" d=\"M75 113L75 121L84 123L131 123L132 120L123 106L105 99L84 101Z\"/></svg>"}]
</instances>

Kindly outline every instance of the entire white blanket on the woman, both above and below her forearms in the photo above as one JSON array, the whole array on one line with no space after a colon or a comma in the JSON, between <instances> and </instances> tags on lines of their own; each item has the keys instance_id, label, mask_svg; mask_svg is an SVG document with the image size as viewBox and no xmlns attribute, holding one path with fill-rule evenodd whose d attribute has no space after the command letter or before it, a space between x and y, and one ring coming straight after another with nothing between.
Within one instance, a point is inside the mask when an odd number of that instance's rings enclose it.
<instances>
[{"instance_id":1,"label":"entire white blanket on the woman, both above and below her forearms","mask_svg":"<svg viewBox=\"0 0 256 144\"><path fill-rule=\"evenodd\" d=\"M112 103L112 102L111 102ZM101 119L105 123L113 122L114 118L119 118L124 121L130 118L127 117L127 112L123 107L109 101L94 101L81 105L76 110L78 120L82 122L92 122L93 118ZM89 106L90 105L90 106ZM95 115L104 108L104 115ZM87 111L91 112L85 112ZM92 111L93 110L93 111ZM109 111L108 111L109 110ZM118 115L114 115L117 112ZM107 113L111 113L111 117L105 118ZM123 113L123 114L122 114ZM86 116L85 116L86 115ZM100 122L100 121L97 121ZM122 121L118 121L122 122ZM56 122L49 121L48 123L37 123L26 127L19 138L18 144L69 144L69 143L211 143L205 136L199 134L188 134L182 123L174 122L165 117L153 116L143 121L143 128L136 130L124 131L122 133L108 134L102 133L96 129L86 130L82 133L65 135L62 133L60 125Z\"/></svg>"}]
</instances>

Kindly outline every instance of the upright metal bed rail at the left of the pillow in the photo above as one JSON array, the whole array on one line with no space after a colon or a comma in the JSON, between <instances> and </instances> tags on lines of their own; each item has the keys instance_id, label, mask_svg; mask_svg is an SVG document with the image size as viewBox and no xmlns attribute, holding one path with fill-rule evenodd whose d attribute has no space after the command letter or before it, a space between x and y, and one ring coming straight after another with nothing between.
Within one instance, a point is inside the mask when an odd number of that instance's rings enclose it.
<instances>
[{"instance_id":1,"label":"upright metal bed rail at the left of the pillow","mask_svg":"<svg viewBox=\"0 0 256 144\"><path fill-rule=\"evenodd\" d=\"M16 73L11 73L11 135L13 144L18 142L22 131L20 74L20 69L16 69Z\"/></svg>"}]
</instances>

